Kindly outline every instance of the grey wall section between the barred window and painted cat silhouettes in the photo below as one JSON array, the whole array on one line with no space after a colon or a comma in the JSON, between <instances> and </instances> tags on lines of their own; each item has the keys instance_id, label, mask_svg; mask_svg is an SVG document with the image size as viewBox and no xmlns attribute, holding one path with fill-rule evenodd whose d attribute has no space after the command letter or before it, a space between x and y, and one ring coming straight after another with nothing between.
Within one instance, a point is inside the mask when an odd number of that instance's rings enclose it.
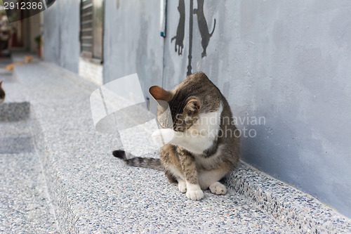
<instances>
[{"instance_id":1,"label":"grey wall section between the barred window and painted cat silhouettes","mask_svg":"<svg viewBox=\"0 0 351 234\"><path fill-rule=\"evenodd\" d=\"M104 83L138 73L145 97L162 85L160 1L105 1ZM155 104L155 103L153 103Z\"/></svg>"}]
</instances>

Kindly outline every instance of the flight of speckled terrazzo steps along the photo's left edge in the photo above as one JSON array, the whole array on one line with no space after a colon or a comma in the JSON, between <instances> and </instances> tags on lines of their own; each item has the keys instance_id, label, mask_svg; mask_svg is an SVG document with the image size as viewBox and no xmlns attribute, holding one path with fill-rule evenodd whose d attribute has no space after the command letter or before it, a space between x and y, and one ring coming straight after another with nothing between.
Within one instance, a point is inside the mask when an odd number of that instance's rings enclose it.
<instances>
[{"instance_id":1,"label":"flight of speckled terrazzo steps along the photo's left edge","mask_svg":"<svg viewBox=\"0 0 351 234\"><path fill-rule=\"evenodd\" d=\"M6 91L0 105L0 232L57 233L24 87L12 72L0 71L0 79Z\"/></svg>"}]
</instances>

